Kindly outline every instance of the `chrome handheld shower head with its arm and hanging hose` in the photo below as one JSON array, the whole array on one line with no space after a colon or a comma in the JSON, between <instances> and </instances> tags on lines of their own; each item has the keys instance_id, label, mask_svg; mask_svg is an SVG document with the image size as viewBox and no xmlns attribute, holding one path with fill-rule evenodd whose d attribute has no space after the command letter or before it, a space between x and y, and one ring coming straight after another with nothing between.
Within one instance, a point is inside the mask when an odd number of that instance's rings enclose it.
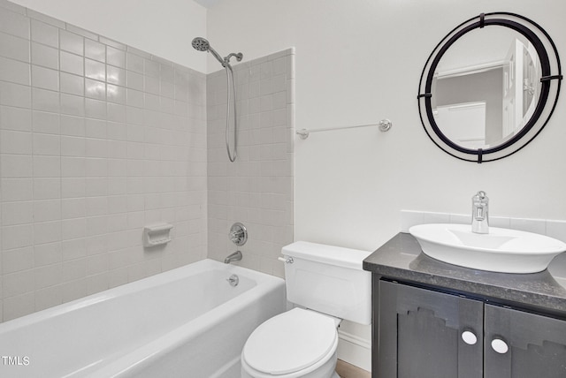
<instances>
[{"instance_id":1,"label":"chrome handheld shower head with its arm and hanging hose","mask_svg":"<svg viewBox=\"0 0 566 378\"><path fill-rule=\"evenodd\" d=\"M239 53L230 53L226 57L220 57L218 52L215 49L212 49L210 46L210 42L205 40L203 37L196 37L192 42L193 48L198 51L208 51L212 54L213 57L216 57L218 62L222 64L224 69L226 70L226 152L228 153L228 159L230 162L234 162L236 160L237 153L237 141L238 141L238 132L237 132L237 117L236 117L236 84L235 80L233 79L233 70L232 65L230 65L230 59L235 57L238 62L241 61L243 55L241 52ZM230 129L230 77L232 77L232 93L233 93L233 153L230 151L230 142L228 141L229 129Z\"/></svg>"}]
</instances>

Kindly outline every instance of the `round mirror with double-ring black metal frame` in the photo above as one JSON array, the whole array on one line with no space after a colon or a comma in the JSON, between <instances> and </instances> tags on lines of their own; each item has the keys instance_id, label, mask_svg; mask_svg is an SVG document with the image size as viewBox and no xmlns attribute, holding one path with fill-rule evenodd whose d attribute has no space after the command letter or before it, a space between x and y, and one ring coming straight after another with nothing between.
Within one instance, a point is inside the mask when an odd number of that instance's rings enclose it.
<instances>
[{"instance_id":1,"label":"round mirror with double-ring black metal frame","mask_svg":"<svg viewBox=\"0 0 566 378\"><path fill-rule=\"evenodd\" d=\"M554 42L512 13L468 19L432 51L419 84L424 130L470 162L509 156L547 124L562 72Z\"/></svg>"}]
</instances>

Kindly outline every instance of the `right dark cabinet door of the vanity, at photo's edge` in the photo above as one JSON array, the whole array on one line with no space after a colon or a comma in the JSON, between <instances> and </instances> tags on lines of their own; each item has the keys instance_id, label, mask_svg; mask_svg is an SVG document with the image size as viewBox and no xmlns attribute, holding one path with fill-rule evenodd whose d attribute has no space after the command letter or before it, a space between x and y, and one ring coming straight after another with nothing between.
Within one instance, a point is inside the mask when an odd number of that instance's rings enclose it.
<instances>
[{"instance_id":1,"label":"right dark cabinet door of the vanity, at photo's edge","mask_svg":"<svg viewBox=\"0 0 566 378\"><path fill-rule=\"evenodd\" d=\"M492 305L485 321L486 378L566 377L566 321Z\"/></svg>"}]
</instances>

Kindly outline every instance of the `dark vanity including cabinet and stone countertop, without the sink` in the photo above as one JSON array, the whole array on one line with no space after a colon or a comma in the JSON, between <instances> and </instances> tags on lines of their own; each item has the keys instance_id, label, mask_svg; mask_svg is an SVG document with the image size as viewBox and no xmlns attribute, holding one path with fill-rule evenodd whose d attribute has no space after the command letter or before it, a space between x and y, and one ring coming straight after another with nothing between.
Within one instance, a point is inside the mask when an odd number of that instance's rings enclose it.
<instances>
[{"instance_id":1,"label":"dark vanity including cabinet and stone countertop, without the sink","mask_svg":"<svg viewBox=\"0 0 566 378\"><path fill-rule=\"evenodd\" d=\"M372 273L372 372L379 378L566 376L566 280L432 259L399 233Z\"/></svg>"}]
</instances>

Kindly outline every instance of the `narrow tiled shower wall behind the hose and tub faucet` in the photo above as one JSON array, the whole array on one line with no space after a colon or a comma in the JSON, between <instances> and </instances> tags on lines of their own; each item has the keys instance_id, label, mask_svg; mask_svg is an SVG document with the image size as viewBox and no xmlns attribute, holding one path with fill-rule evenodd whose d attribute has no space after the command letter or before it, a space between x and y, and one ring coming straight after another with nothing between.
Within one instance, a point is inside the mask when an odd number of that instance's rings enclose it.
<instances>
[{"instance_id":1,"label":"narrow tiled shower wall behind the hose and tub faucet","mask_svg":"<svg viewBox=\"0 0 566 378\"><path fill-rule=\"evenodd\" d=\"M226 72L207 79L209 257L222 261L240 249L237 264L283 276L277 258L293 242L294 49L237 64L234 74L234 163L226 153ZM235 222L248 229L249 241L241 247L228 239Z\"/></svg>"}]
</instances>

